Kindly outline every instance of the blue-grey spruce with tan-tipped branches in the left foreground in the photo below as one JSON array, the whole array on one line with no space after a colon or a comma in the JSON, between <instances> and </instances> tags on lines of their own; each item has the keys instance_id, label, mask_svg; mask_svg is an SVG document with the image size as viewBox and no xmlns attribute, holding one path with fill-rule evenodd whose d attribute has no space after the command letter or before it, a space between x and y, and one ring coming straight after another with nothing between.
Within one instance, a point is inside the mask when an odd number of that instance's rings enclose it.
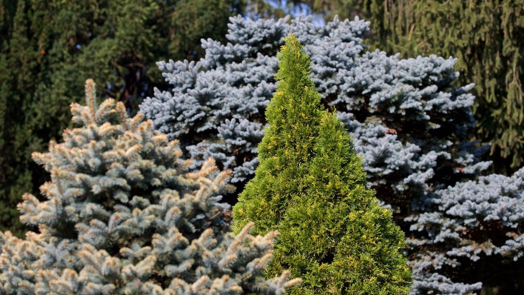
<instances>
[{"instance_id":1,"label":"blue-grey spruce with tan-tipped branches in the left foreground","mask_svg":"<svg viewBox=\"0 0 524 295\"><path fill-rule=\"evenodd\" d=\"M88 80L87 106L71 104L83 127L33 154L51 174L46 200L18 207L39 233L0 233L0 294L281 294L300 281L264 278L276 231L231 233L229 171L210 159L185 172L177 141L94 92Z\"/></svg>"}]
</instances>

